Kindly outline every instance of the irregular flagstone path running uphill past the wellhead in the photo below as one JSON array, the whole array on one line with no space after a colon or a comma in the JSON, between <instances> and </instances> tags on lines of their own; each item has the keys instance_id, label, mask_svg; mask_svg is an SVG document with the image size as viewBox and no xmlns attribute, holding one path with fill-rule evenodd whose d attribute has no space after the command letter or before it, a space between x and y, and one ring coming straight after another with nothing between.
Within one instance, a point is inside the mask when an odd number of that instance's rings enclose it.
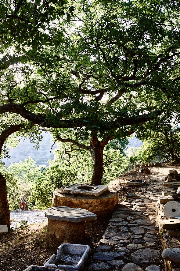
<instances>
[{"instance_id":1,"label":"irregular flagstone path running uphill past the wellhead","mask_svg":"<svg viewBox=\"0 0 180 271\"><path fill-rule=\"evenodd\" d=\"M139 187L113 213L88 270L162 271L156 203L164 176Z\"/></svg>"}]
</instances>

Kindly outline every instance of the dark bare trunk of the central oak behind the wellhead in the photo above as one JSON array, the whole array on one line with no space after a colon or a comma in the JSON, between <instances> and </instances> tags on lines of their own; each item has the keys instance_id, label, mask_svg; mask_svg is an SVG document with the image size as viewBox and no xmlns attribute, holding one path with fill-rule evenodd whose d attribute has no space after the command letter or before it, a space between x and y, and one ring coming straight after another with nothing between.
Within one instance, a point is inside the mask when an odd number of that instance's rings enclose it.
<instances>
[{"instance_id":1,"label":"dark bare trunk of the central oak behind the wellhead","mask_svg":"<svg viewBox=\"0 0 180 271\"><path fill-rule=\"evenodd\" d=\"M100 141L98 141L98 138L96 136L92 136L91 147L93 148L92 159L94 161L94 168L93 168L91 183L100 185L102 177L103 177L103 171L104 171L104 163L103 163L104 145Z\"/></svg>"}]
</instances>

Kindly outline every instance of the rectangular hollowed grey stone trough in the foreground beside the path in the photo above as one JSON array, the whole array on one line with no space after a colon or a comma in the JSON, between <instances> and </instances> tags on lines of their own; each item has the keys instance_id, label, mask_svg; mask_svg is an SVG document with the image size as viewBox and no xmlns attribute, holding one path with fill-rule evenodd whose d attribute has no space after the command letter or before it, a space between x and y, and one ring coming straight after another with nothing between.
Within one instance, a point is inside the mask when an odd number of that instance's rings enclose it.
<instances>
[{"instance_id":1,"label":"rectangular hollowed grey stone trough in the foreground beside the path","mask_svg":"<svg viewBox=\"0 0 180 271\"><path fill-rule=\"evenodd\" d=\"M58 247L57 255L53 254L44 266L60 270L83 270L90 253L88 245L64 243Z\"/></svg>"}]
</instances>

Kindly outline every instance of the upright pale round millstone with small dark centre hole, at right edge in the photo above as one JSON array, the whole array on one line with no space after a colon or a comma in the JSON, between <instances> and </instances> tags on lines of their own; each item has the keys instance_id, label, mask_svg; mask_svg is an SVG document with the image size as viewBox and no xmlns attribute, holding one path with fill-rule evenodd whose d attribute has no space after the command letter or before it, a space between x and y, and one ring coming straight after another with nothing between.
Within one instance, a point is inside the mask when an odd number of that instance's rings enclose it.
<instances>
[{"instance_id":1,"label":"upright pale round millstone with small dark centre hole, at right edge","mask_svg":"<svg viewBox=\"0 0 180 271\"><path fill-rule=\"evenodd\" d=\"M180 216L180 203L177 201L168 201L163 208L164 216L169 219L172 217Z\"/></svg>"}]
</instances>

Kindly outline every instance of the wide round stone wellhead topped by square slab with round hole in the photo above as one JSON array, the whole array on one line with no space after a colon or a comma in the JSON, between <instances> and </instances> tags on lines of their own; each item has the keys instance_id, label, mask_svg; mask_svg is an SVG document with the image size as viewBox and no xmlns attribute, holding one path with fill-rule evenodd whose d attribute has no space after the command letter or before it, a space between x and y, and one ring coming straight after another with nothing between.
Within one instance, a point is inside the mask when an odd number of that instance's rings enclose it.
<instances>
[{"instance_id":1,"label":"wide round stone wellhead topped by square slab with round hole","mask_svg":"<svg viewBox=\"0 0 180 271\"><path fill-rule=\"evenodd\" d=\"M53 193L52 206L86 209L98 218L109 218L118 203L116 191L107 186L75 183Z\"/></svg>"}]
</instances>

